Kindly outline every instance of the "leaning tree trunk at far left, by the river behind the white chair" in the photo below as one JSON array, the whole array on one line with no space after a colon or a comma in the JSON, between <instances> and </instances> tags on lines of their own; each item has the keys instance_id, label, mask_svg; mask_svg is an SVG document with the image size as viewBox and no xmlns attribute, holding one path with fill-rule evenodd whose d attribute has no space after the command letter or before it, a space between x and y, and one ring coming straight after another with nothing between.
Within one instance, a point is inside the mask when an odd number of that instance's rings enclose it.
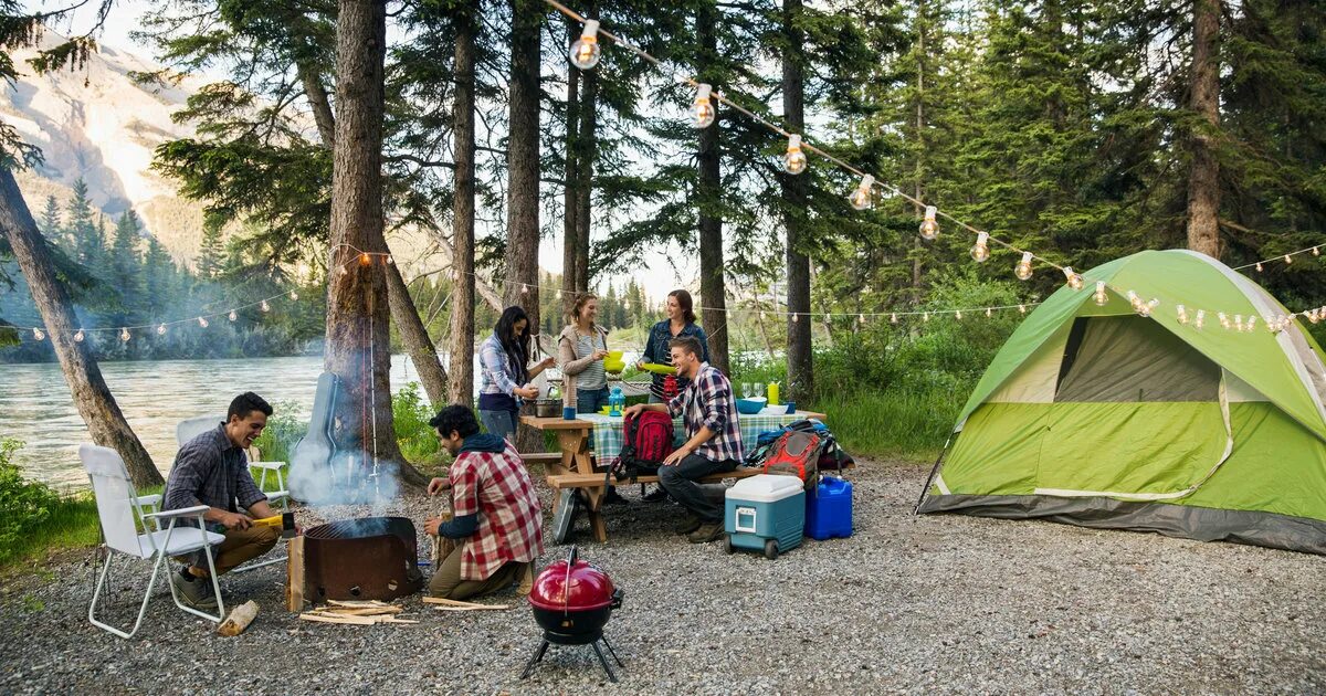
<instances>
[{"instance_id":1,"label":"leaning tree trunk at far left, by the river behind the white chair","mask_svg":"<svg viewBox=\"0 0 1326 696\"><path fill-rule=\"evenodd\" d=\"M46 241L37 231L19 183L8 168L0 168L0 229L8 236L32 300L41 312L46 337L56 349L60 370L69 383L74 407L91 434L91 441L119 452L134 487L146 489L162 485L164 480L160 472L121 414L89 345L74 341L78 326L69 293L56 278L56 269L46 255Z\"/></svg>"}]
</instances>

